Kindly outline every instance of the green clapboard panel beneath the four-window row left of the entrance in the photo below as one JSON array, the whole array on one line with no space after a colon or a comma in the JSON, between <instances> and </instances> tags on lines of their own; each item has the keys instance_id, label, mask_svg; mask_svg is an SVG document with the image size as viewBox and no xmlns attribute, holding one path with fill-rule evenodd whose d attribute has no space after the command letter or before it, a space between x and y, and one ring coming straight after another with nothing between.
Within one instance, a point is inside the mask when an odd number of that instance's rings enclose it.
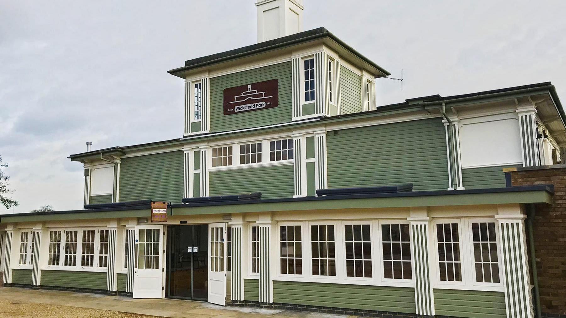
<instances>
[{"instance_id":1,"label":"green clapboard panel beneath the four-window row left of the entrance","mask_svg":"<svg viewBox=\"0 0 566 318\"><path fill-rule=\"evenodd\" d=\"M106 290L106 273L42 270L41 286Z\"/></svg>"}]
</instances>

